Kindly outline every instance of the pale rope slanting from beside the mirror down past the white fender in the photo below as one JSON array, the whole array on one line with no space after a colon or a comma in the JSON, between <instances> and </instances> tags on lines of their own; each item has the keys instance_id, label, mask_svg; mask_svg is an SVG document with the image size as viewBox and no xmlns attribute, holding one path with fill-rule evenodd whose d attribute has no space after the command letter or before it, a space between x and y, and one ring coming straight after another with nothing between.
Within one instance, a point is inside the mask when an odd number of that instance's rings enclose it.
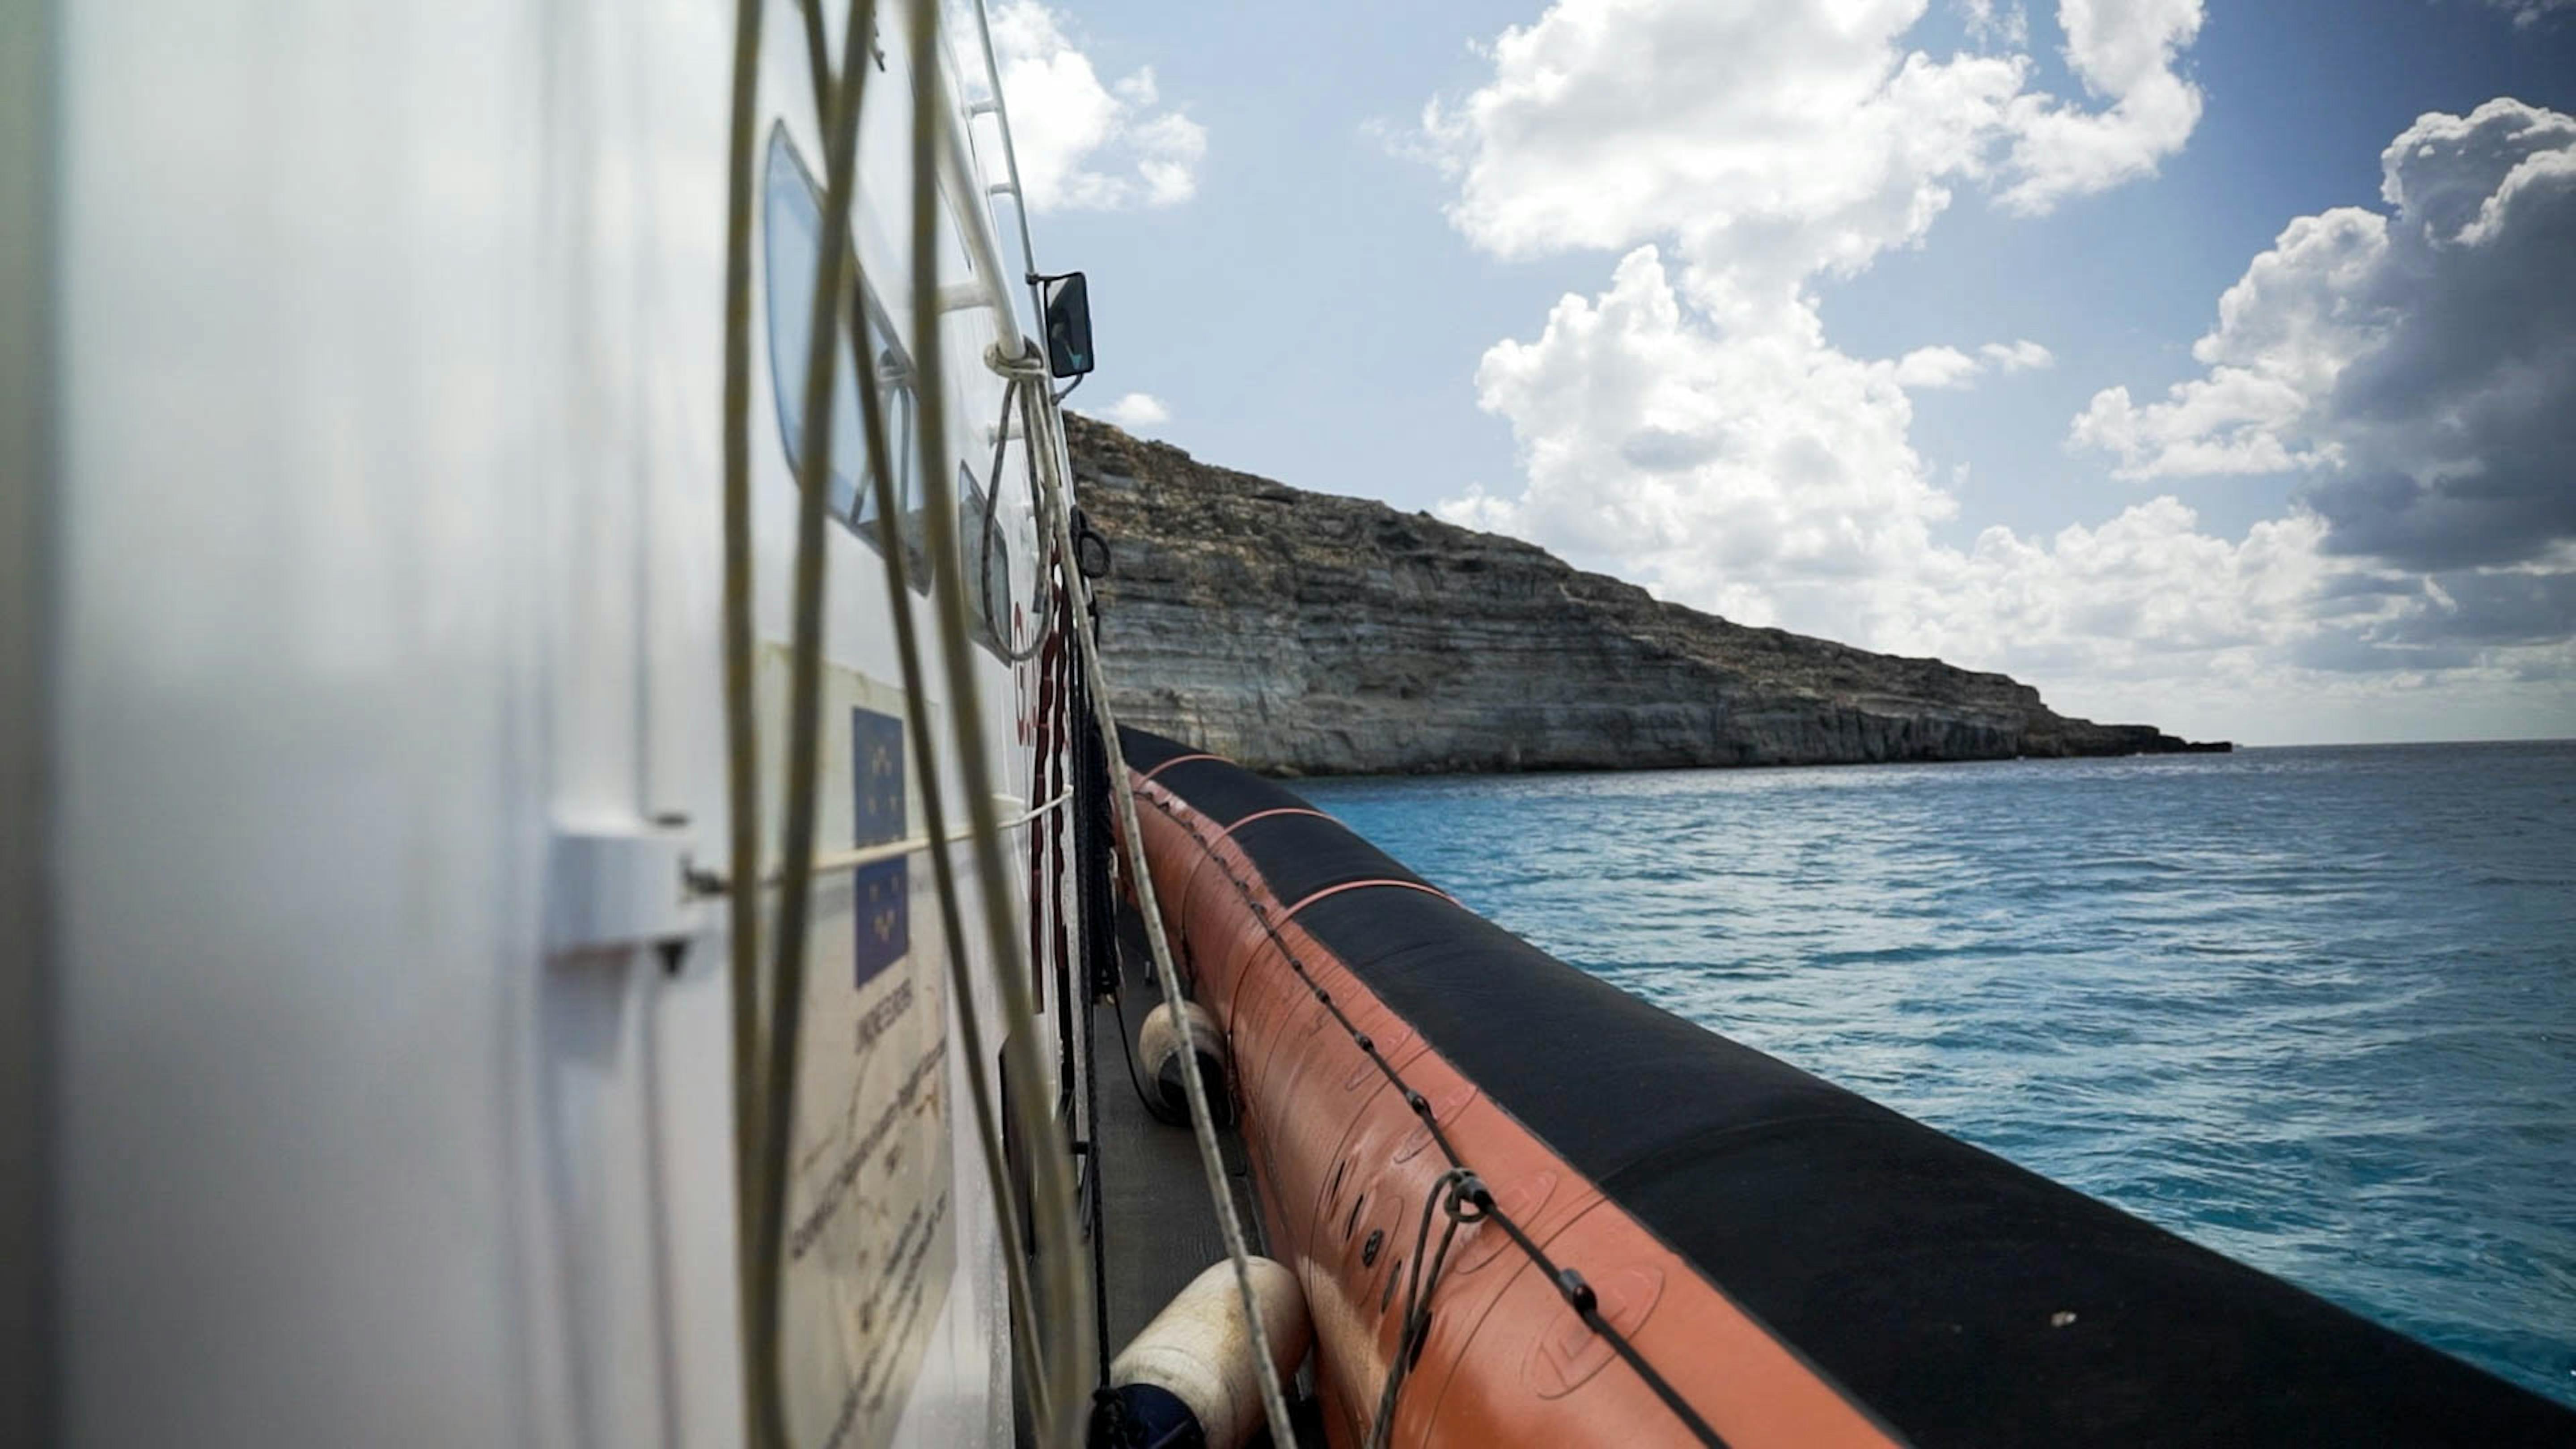
<instances>
[{"instance_id":1,"label":"pale rope slanting from beside the mirror down past the white fender","mask_svg":"<svg viewBox=\"0 0 2576 1449\"><path fill-rule=\"evenodd\" d=\"M987 353L987 361L1005 374L1018 374L1028 379L1041 379L1043 387L1043 361L1030 351L1023 358L1005 358L997 351ZM1066 562L1079 562L1072 531L1072 508L1064 505L1064 480L1059 469L1064 467L1064 436L1056 431L1056 415L1041 413L1046 425L1046 462L1048 469L1041 472L1046 487L1046 516L1056 526L1056 544ZM1030 449L1036 451L1036 438ZM1079 567L1074 570L1079 578ZM1136 890L1139 915L1144 918L1146 946L1154 957L1154 977L1162 985L1167 1003L1175 1003L1180 1016L1180 1042L1182 1052L1195 1060L1198 1039L1190 1029L1190 1016L1177 1008L1188 1000L1180 990L1180 972L1172 969L1172 944L1162 933L1162 910L1154 902L1154 874L1144 859L1144 835L1136 828L1136 792L1128 786L1126 753L1118 748L1118 714L1110 709L1110 683L1108 670L1100 663L1100 639L1095 637L1092 619L1087 611L1077 608L1074 645L1082 655L1082 678L1090 688L1092 722L1100 732L1100 745L1108 755L1110 799L1118 804L1118 825L1126 835L1128 848L1128 877ZM1123 1029L1123 1021L1121 1021ZM1252 1292L1252 1248L1244 1240L1242 1214L1234 1209L1234 1191L1226 1178L1226 1160L1216 1145L1216 1116L1208 1111L1208 1088L1198 1080L1195 1070L1180 1073L1182 1091L1190 1098L1190 1137L1198 1142L1198 1163L1208 1176L1208 1196L1216 1204L1216 1227L1226 1240L1226 1261L1234 1266L1234 1292L1244 1315L1244 1333L1252 1338L1255 1372L1260 1374L1262 1413L1270 1418L1273 1444L1296 1444L1296 1426L1288 1418L1288 1395L1280 1390L1278 1364L1270 1356L1270 1330L1262 1325L1260 1297Z\"/></svg>"}]
</instances>

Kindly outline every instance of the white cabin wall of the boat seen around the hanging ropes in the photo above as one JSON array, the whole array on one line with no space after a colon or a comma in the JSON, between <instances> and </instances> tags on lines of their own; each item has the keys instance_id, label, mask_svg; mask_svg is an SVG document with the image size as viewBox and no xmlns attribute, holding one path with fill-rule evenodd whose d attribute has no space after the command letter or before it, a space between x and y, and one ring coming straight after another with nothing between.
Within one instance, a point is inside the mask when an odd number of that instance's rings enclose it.
<instances>
[{"instance_id":1,"label":"white cabin wall of the boat seen around the hanging ropes","mask_svg":"<svg viewBox=\"0 0 2576 1449\"><path fill-rule=\"evenodd\" d=\"M729 5L59 26L67 1439L734 1444L724 941L701 918L667 972L549 962L544 931L559 838L675 820L721 859ZM765 106L811 152L791 5L768 36ZM902 322L891 59L860 248ZM945 335L981 472L992 327ZM781 642L793 487L755 366ZM899 678L876 554L835 531L829 567L835 663ZM981 676L1025 792L1015 678ZM989 972L974 1008L999 1042ZM1010 1434L1002 1248L951 1122L958 1269L899 1431L925 1446Z\"/></svg>"}]
</instances>

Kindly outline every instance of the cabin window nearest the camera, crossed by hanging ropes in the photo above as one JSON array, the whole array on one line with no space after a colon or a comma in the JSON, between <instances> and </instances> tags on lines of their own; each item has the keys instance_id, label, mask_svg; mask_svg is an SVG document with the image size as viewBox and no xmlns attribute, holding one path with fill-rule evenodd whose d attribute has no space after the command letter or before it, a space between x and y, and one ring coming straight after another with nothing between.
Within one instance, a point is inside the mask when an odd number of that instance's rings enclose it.
<instances>
[{"instance_id":1,"label":"cabin window nearest the camera, crossed by hanging ropes","mask_svg":"<svg viewBox=\"0 0 2576 1449\"><path fill-rule=\"evenodd\" d=\"M804 472L799 449L804 443L804 369L806 325L814 315L814 263L822 255L822 183L806 168L786 126L770 126L770 155L765 178L765 250L768 271L768 322L770 322L770 389L778 402L778 441L788 464ZM860 327L866 348L858 353L868 364L878 402L886 418L886 449L894 454L894 495L904 511L904 562L912 588L927 590L930 570L922 549L920 490L912 477L914 382L912 358L894 340L886 309L873 289L860 281L858 317L842 320L842 330ZM858 410L858 376L850 366L853 351L845 345L832 369L832 516L871 547L884 549L876 526L876 487L860 487L860 467L868 456Z\"/></svg>"}]
</instances>

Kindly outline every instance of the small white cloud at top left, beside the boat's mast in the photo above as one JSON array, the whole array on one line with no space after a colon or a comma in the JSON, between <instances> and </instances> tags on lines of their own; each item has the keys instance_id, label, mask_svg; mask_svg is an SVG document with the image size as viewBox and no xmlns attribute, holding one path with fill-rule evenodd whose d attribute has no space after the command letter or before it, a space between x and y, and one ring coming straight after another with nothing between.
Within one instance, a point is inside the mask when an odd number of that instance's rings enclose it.
<instances>
[{"instance_id":1,"label":"small white cloud at top left, beside the boat's mast","mask_svg":"<svg viewBox=\"0 0 2576 1449\"><path fill-rule=\"evenodd\" d=\"M1038 0L999 5L992 41L1033 211L1172 206L1198 191L1208 131L1180 111L1154 111L1151 70L1103 85L1064 18Z\"/></svg>"}]
</instances>

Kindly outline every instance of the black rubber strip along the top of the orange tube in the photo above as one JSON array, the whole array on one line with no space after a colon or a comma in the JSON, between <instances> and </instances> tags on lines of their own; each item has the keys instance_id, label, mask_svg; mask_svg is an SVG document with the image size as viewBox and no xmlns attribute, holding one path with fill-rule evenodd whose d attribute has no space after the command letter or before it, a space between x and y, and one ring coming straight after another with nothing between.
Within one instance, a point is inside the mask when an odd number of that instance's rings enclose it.
<instances>
[{"instance_id":1,"label":"black rubber strip along the top of the orange tube","mask_svg":"<svg viewBox=\"0 0 2576 1449\"><path fill-rule=\"evenodd\" d=\"M1221 761L1157 779L1221 825L1303 804ZM1280 905L1417 879L1311 815L1234 841ZM1445 897L1360 887L1296 920L1917 1444L2576 1444L2576 1413L2540 1395L1636 1000Z\"/></svg>"}]
</instances>

